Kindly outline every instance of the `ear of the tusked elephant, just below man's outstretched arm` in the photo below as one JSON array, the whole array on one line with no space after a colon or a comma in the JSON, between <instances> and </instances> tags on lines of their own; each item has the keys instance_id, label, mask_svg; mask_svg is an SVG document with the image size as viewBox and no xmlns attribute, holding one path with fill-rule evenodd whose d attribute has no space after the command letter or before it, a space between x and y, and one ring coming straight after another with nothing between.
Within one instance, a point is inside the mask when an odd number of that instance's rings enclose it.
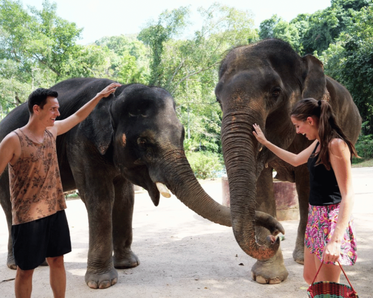
<instances>
[{"instance_id":1,"label":"ear of the tusked elephant, just below man's outstretched arm","mask_svg":"<svg viewBox=\"0 0 373 298\"><path fill-rule=\"evenodd\" d=\"M79 124L81 132L102 155L109 148L114 134L110 108L111 102L102 99L91 114Z\"/></svg>"}]
</instances>

